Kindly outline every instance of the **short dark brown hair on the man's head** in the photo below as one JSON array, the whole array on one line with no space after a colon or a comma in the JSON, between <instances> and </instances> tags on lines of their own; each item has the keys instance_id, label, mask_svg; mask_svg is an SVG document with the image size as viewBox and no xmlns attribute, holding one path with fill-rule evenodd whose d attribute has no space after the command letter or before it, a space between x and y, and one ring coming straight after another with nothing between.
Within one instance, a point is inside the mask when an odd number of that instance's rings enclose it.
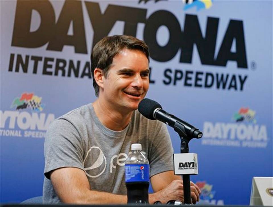
<instances>
[{"instance_id":1,"label":"short dark brown hair on the man's head","mask_svg":"<svg viewBox=\"0 0 273 207\"><path fill-rule=\"evenodd\" d=\"M91 53L91 73L96 96L99 95L99 86L94 78L94 70L96 68L102 69L103 75L107 77L113 58L125 48L142 51L149 61L149 47L144 41L133 36L114 35L105 37L94 46Z\"/></svg>"}]
</instances>

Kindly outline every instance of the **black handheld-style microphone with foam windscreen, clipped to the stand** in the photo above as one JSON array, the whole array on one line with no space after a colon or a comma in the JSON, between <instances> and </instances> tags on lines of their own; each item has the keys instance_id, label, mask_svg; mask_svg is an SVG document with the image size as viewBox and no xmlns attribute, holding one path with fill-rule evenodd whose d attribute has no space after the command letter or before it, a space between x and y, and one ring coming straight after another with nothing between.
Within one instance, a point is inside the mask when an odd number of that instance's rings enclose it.
<instances>
[{"instance_id":1,"label":"black handheld-style microphone with foam windscreen, clipped to the stand","mask_svg":"<svg viewBox=\"0 0 273 207\"><path fill-rule=\"evenodd\" d=\"M157 119L173 128L183 128L182 131L186 133L189 138L201 138L203 135L199 129L190 125L186 121L183 121L174 115L167 113L162 109L162 106L158 102L151 99L144 98L138 104L138 111L148 119Z\"/></svg>"}]
</instances>

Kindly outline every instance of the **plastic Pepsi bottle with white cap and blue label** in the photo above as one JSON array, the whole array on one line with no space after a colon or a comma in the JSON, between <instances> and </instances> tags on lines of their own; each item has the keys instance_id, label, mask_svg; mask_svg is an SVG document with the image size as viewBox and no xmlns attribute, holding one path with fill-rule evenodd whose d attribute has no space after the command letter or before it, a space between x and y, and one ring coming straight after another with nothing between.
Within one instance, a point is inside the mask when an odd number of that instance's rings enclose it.
<instances>
[{"instance_id":1,"label":"plastic Pepsi bottle with white cap and blue label","mask_svg":"<svg viewBox=\"0 0 273 207\"><path fill-rule=\"evenodd\" d=\"M149 161L141 152L141 144L132 144L125 162L125 184L128 203L149 203Z\"/></svg>"}]
</instances>

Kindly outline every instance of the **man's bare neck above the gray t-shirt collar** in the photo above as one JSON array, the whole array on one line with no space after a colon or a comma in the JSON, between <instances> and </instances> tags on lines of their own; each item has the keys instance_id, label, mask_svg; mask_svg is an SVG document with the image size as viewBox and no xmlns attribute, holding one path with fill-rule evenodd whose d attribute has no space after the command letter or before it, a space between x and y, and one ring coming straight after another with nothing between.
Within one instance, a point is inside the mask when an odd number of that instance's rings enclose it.
<instances>
[{"instance_id":1,"label":"man's bare neck above the gray t-shirt collar","mask_svg":"<svg viewBox=\"0 0 273 207\"><path fill-rule=\"evenodd\" d=\"M100 98L93 103L93 107L100 122L113 131L125 129L131 121L133 111L126 113L122 110L114 109L113 107L104 104Z\"/></svg>"}]
</instances>

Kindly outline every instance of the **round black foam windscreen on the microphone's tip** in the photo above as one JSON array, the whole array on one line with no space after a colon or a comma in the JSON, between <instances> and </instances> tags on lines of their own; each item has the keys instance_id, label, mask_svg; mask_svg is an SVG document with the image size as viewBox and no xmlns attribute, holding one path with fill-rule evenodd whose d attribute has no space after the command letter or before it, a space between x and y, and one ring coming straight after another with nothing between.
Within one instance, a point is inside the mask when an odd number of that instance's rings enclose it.
<instances>
[{"instance_id":1,"label":"round black foam windscreen on the microphone's tip","mask_svg":"<svg viewBox=\"0 0 273 207\"><path fill-rule=\"evenodd\" d=\"M139 104L138 104L138 111L146 118L155 120L153 113L156 108L162 108L162 106L151 99L144 98Z\"/></svg>"}]
</instances>

